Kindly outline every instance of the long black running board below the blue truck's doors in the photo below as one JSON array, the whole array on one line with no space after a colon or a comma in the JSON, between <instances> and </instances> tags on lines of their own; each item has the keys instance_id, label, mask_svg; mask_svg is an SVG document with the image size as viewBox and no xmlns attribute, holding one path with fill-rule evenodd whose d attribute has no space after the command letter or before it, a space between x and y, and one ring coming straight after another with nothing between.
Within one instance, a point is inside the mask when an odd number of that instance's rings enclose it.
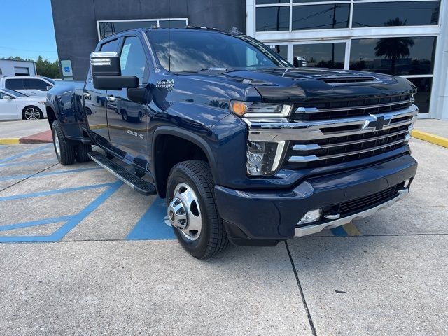
<instances>
[{"instance_id":1,"label":"long black running board below the blue truck's doors","mask_svg":"<svg viewBox=\"0 0 448 336\"><path fill-rule=\"evenodd\" d=\"M156 191L153 184L145 181L144 179L140 179L138 176L135 176L131 172L127 171L122 166L118 165L116 162L113 162L106 158L102 153L99 152L90 152L88 153L89 158L91 158L94 162L97 162L98 165L117 176L118 179L125 182L128 186L134 188L137 192L143 195L155 195Z\"/></svg>"}]
</instances>

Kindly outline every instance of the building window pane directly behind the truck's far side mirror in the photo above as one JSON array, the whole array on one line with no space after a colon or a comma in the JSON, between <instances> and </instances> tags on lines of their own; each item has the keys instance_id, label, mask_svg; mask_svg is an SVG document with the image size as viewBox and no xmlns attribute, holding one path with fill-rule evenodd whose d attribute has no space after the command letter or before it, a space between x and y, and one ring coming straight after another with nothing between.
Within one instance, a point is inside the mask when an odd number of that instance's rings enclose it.
<instances>
[{"instance_id":1,"label":"building window pane directly behind the truck's far side mirror","mask_svg":"<svg viewBox=\"0 0 448 336\"><path fill-rule=\"evenodd\" d=\"M345 43L297 44L293 57L303 57L307 66L344 69Z\"/></svg>"}]
</instances>

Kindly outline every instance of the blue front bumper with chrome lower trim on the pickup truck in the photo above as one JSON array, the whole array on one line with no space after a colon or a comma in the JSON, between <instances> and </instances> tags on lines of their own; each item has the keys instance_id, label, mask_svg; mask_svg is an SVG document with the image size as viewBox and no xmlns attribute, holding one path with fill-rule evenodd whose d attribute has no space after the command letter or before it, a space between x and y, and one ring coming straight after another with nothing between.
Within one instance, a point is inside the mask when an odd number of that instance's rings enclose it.
<instances>
[{"instance_id":1,"label":"blue front bumper with chrome lower trim on the pickup truck","mask_svg":"<svg viewBox=\"0 0 448 336\"><path fill-rule=\"evenodd\" d=\"M347 214L333 221L322 219L309 225L297 225L300 218L312 209L362 199L413 179L416 168L414 158L402 155L350 172L309 178L293 190L233 190L216 186L216 203L232 242L239 245L276 244L370 216L401 200L408 190L400 187L390 199L368 209L360 209L356 214Z\"/></svg>"}]
</instances>

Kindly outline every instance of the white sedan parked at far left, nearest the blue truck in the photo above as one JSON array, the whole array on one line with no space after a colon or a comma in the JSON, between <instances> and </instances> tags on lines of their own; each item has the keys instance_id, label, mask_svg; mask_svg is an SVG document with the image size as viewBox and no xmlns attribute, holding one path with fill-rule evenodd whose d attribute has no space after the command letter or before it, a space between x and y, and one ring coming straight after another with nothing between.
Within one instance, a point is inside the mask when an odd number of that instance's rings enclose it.
<instances>
[{"instance_id":1,"label":"white sedan parked at far left, nearest the blue truck","mask_svg":"<svg viewBox=\"0 0 448 336\"><path fill-rule=\"evenodd\" d=\"M47 118L44 97L29 97L18 91L0 89L0 120Z\"/></svg>"}]
</instances>

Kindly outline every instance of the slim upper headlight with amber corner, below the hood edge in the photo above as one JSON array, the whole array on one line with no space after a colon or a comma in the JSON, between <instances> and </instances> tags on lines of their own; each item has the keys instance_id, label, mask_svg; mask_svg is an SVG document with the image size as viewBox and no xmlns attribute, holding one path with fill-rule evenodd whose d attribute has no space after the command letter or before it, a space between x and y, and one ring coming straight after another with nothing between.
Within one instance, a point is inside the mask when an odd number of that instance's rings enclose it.
<instances>
[{"instance_id":1,"label":"slim upper headlight with amber corner, below the hood edge","mask_svg":"<svg viewBox=\"0 0 448 336\"><path fill-rule=\"evenodd\" d=\"M230 111L237 116L251 117L287 117L293 106L288 104L270 104L260 102L241 102L232 100Z\"/></svg>"}]
</instances>

